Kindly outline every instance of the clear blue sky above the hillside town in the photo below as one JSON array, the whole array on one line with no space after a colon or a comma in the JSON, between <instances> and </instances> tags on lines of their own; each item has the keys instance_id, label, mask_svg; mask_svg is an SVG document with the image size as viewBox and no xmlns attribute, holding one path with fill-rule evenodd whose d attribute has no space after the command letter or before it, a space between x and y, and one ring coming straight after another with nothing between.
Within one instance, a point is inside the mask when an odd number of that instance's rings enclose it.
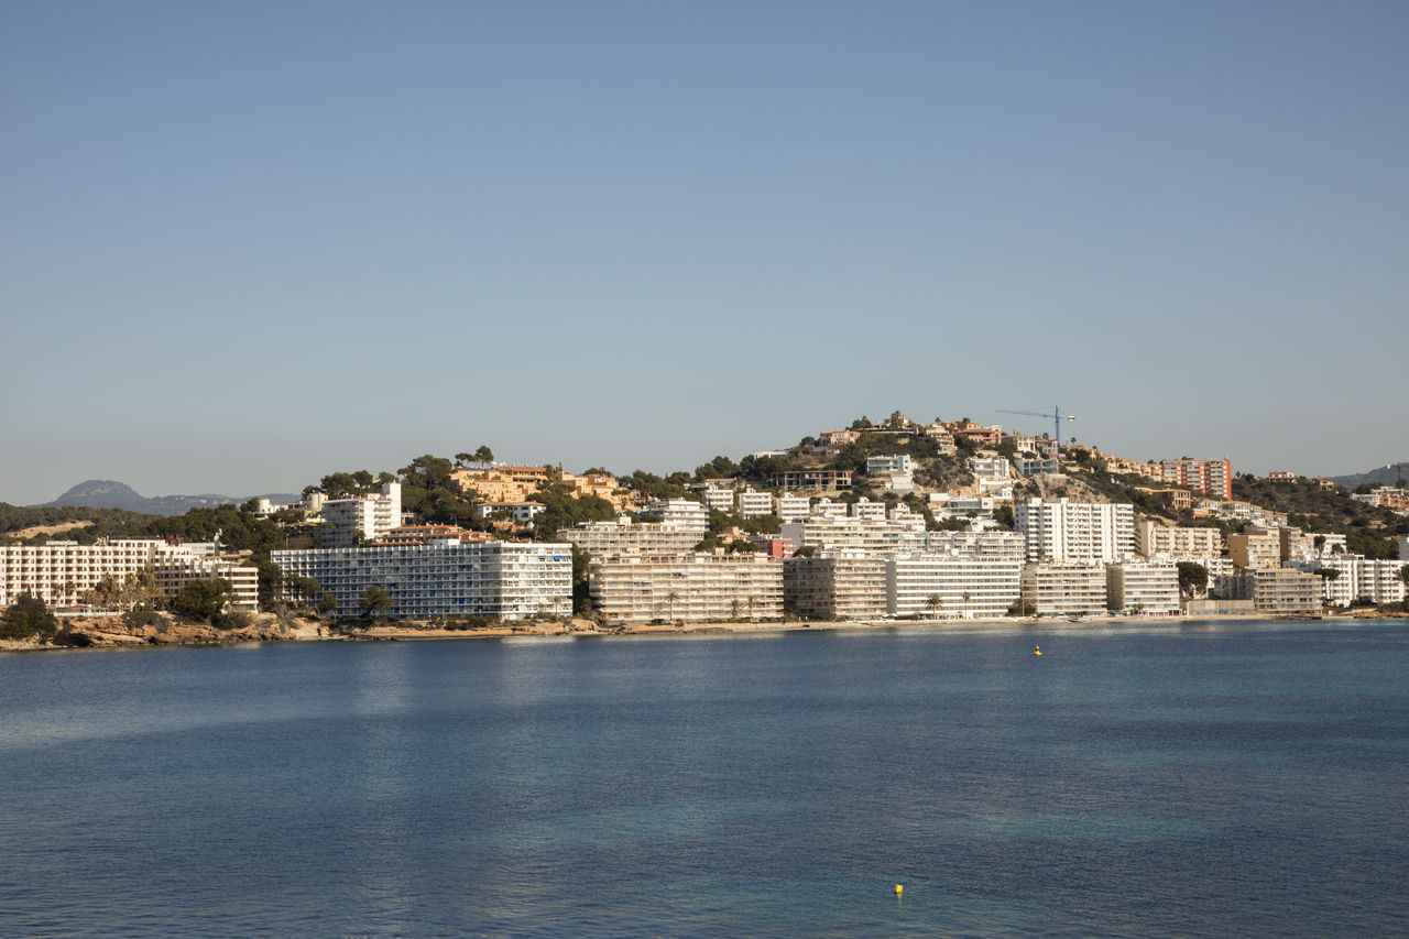
<instances>
[{"instance_id":1,"label":"clear blue sky above the hillside town","mask_svg":"<svg viewBox=\"0 0 1409 939\"><path fill-rule=\"evenodd\" d=\"M0 501L893 410L1409 460L1409 4L0 0Z\"/></svg>"}]
</instances>

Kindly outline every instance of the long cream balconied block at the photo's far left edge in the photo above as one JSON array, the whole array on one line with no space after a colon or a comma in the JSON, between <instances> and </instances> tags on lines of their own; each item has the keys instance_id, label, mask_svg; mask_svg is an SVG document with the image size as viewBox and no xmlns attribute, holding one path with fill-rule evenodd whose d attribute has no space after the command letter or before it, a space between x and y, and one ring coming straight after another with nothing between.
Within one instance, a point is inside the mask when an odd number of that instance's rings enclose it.
<instances>
[{"instance_id":1,"label":"long cream balconied block at the photo's far left edge","mask_svg":"<svg viewBox=\"0 0 1409 939\"><path fill-rule=\"evenodd\" d=\"M20 594L38 596L49 606L75 605L106 577L121 582L152 571L168 596L193 579L224 579L235 589L231 606L255 610L259 572L242 560L216 554L214 544L172 546L159 539L6 544L0 546L0 606L8 606Z\"/></svg>"}]
</instances>

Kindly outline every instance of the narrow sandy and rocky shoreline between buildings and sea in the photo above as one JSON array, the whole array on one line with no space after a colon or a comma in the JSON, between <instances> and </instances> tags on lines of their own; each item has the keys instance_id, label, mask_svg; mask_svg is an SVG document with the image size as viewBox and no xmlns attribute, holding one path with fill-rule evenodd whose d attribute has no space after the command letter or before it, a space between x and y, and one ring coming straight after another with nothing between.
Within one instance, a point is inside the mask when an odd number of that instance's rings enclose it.
<instances>
[{"instance_id":1,"label":"narrow sandy and rocky shoreline between buildings and sea","mask_svg":"<svg viewBox=\"0 0 1409 939\"><path fill-rule=\"evenodd\" d=\"M166 646L244 646L251 643L285 642L447 642L447 640L575 640L575 639L659 639L700 636L768 636L800 632L879 632L879 630L924 630L954 633L1031 633L1031 632L1082 632L1091 629L1120 632L1158 632L1165 627L1182 627L1191 623L1208 626L1234 623L1278 622L1327 622L1348 623L1361 619L1405 619L1409 613L1377 610L1374 615L1330 615L1279 618L1255 613L1224 613L1198 616L1088 616L1079 620L1065 618L996 618L996 619L936 619L936 620L795 620L795 622L724 622L724 623L681 623L681 625L634 625L602 629L592 620L572 619L568 622L528 620L517 625L490 626L483 629L438 629L414 623L387 623L368 626L351 632L335 630L317 620L294 619L279 623L265 613L252 626L223 632L211 626L190 623L169 623L166 626L145 626L135 630L111 629L111 620L73 620L69 623L66 642L0 640L0 653L6 651L49 651L73 649L148 649Z\"/></svg>"}]
</instances>

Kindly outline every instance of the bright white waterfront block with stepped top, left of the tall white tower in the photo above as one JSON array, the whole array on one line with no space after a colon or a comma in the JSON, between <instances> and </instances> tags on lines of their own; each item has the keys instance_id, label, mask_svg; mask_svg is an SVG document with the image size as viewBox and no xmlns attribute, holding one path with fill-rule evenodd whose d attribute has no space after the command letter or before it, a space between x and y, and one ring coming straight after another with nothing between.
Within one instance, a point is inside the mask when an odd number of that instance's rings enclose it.
<instances>
[{"instance_id":1,"label":"bright white waterfront block with stepped top, left of the tall white tower","mask_svg":"<svg viewBox=\"0 0 1409 939\"><path fill-rule=\"evenodd\" d=\"M886 560L893 616L993 619L1020 592L1023 539L1012 532L930 532L926 547Z\"/></svg>"}]
</instances>

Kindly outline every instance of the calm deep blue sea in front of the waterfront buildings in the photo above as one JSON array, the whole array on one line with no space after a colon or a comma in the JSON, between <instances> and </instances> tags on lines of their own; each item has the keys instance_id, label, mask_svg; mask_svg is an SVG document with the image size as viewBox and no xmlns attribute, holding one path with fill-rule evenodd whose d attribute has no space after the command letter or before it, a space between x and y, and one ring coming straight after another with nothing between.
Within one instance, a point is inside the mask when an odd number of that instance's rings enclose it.
<instances>
[{"instance_id":1,"label":"calm deep blue sea in front of the waterfront buildings","mask_svg":"<svg viewBox=\"0 0 1409 939\"><path fill-rule=\"evenodd\" d=\"M1402 620L17 654L0 713L6 936L1409 935Z\"/></svg>"}]
</instances>

